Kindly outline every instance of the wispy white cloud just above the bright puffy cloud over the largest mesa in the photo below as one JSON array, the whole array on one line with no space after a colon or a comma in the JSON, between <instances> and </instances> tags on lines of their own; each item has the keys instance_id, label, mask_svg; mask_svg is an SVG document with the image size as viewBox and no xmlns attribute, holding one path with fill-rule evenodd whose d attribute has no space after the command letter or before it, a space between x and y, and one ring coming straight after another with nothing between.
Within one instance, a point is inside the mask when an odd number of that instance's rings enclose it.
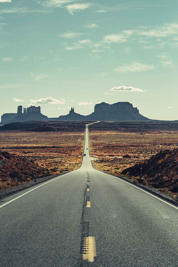
<instances>
[{"instance_id":1,"label":"wispy white cloud just above the bright puffy cloud over the largest mesa","mask_svg":"<svg viewBox=\"0 0 178 267\"><path fill-rule=\"evenodd\" d=\"M119 66L114 69L115 72L125 73L125 72L139 72L144 70L152 70L155 67L153 65L146 65L139 63L137 61L133 61L131 64L124 64L123 66Z\"/></svg>"}]
</instances>

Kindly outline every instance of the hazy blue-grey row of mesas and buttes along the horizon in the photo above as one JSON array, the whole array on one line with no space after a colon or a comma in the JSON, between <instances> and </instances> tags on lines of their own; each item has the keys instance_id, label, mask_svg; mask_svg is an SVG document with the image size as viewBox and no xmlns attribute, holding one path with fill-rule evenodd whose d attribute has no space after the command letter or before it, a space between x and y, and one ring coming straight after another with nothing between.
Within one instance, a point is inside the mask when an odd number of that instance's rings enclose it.
<instances>
[{"instance_id":1,"label":"hazy blue-grey row of mesas and buttes along the horizon","mask_svg":"<svg viewBox=\"0 0 178 267\"><path fill-rule=\"evenodd\" d=\"M5 113L1 116L1 124L24 122L24 121L87 121L87 120L100 120L100 121L149 121L139 113L137 108L129 102L117 102L114 104L100 103L94 107L94 112L90 115L81 115L74 112L71 108L69 114L59 116L57 118L48 118L41 114L40 107L27 107L23 108L18 106L17 113Z\"/></svg>"}]
</instances>

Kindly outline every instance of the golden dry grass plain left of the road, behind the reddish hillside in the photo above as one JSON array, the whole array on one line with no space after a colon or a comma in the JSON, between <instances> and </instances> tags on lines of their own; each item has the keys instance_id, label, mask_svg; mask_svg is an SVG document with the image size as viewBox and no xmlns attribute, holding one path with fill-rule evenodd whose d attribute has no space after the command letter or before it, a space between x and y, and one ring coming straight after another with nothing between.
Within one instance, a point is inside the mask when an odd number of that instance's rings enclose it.
<instances>
[{"instance_id":1,"label":"golden dry grass plain left of the road, behind the reddish hillside","mask_svg":"<svg viewBox=\"0 0 178 267\"><path fill-rule=\"evenodd\" d=\"M84 132L0 132L0 150L25 157L56 175L80 166L84 138ZM58 168L56 158L61 158Z\"/></svg>"}]
</instances>

